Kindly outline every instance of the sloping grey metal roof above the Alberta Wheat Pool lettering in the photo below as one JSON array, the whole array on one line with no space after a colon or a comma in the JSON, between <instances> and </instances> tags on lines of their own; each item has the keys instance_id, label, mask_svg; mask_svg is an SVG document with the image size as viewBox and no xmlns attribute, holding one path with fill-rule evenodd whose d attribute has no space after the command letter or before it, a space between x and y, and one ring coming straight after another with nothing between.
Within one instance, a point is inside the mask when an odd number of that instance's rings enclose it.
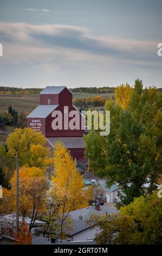
<instances>
[{"instance_id":1,"label":"sloping grey metal roof above the Alberta Wheat Pool lettering","mask_svg":"<svg viewBox=\"0 0 162 256\"><path fill-rule=\"evenodd\" d=\"M27 118L46 118L59 105L39 105L37 106Z\"/></svg>"}]
</instances>

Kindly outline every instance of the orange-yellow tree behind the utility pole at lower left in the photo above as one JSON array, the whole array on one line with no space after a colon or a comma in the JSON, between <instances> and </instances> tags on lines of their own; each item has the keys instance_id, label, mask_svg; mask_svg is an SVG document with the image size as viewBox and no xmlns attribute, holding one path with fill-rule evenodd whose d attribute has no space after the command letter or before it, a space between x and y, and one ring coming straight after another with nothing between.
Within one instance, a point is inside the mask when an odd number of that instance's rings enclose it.
<instances>
[{"instance_id":1,"label":"orange-yellow tree behind the utility pole at lower left","mask_svg":"<svg viewBox=\"0 0 162 256\"><path fill-rule=\"evenodd\" d=\"M10 180L11 189L3 191L0 212L11 214L16 210L16 172ZM34 223L42 217L46 209L46 193L48 184L43 170L36 167L22 167L19 170L19 209L22 220L30 217L29 231ZM6 207L8 205L8 207Z\"/></svg>"}]
</instances>

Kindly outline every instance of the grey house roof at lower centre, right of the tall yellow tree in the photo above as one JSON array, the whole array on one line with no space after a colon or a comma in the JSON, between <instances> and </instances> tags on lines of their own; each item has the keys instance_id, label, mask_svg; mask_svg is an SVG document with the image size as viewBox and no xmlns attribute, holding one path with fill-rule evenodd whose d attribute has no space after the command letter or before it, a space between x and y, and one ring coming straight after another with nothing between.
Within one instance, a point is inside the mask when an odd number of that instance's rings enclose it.
<instances>
[{"instance_id":1,"label":"grey house roof at lower centre, right of the tall yellow tree","mask_svg":"<svg viewBox=\"0 0 162 256\"><path fill-rule=\"evenodd\" d=\"M117 213L117 209L113 209L108 205L100 205L100 211L95 209L95 206L89 206L87 208L78 209L75 211L71 211L69 216L73 220L73 230L70 231L70 235L75 235L82 230L88 229L89 225L87 225L86 221L92 214L101 215L104 214L115 214ZM83 217L83 220L79 220L79 216Z\"/></svg>"}]
</instances>

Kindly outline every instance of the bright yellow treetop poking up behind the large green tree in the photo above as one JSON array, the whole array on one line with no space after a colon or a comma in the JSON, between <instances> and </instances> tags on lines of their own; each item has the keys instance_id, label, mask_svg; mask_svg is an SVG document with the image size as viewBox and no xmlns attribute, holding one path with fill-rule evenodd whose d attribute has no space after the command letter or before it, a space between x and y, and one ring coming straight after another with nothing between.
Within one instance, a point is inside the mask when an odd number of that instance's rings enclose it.
<instances>
[{"instance_id":1,"label":"bright yellow treetop poking up behind the large green tree","mask_svg":"<svg viewBox=\"0 0 162 256\"><path fill-rule=\"evenodd\" d=\"M128 83L121 84L115 89L115 102L121 106L122 109L126 109L130 101L133 88Z\"/></svg>"}]
</instances>

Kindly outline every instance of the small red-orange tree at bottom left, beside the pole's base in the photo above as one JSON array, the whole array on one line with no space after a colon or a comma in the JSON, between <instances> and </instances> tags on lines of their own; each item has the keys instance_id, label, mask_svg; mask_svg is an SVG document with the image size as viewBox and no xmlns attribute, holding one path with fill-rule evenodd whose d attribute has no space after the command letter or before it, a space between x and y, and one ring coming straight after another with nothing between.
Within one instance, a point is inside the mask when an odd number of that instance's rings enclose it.
<instances>
[{"instance_id":1,"label":"small red-orange tree at bottom left, beside the pole's base","mask_svg":"<svg viewBox=\"0 0 162 256\"><path fill-rule=\"evenodd\" d=\"M20 230L17 233L17 237L15 237L16 245L31 245L32 244L32 234L29 232L29 228L27 224L22 222Z\"/></svg>"}]
</instances>

